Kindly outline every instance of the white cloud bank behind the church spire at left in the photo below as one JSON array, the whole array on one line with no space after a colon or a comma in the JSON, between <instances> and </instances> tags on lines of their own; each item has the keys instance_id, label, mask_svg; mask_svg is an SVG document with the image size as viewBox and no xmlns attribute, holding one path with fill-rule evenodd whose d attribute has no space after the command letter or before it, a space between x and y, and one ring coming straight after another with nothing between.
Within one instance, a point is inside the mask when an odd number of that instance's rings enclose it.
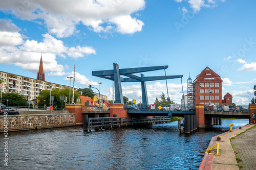
<instances>
[{"instance_id":1,"label":"white cloud bank behind the church spire at left","mask_svg":"<svg viewBox=\"0 0 256 170\"><path fill-rule=\"evenodd\" d=\"M48 75L62 76L65 75L64 70L67 66L58 64L56 56L78 58L96 54L91 46L68 47L48 33L42 35L41 42L24 41L22 35L15 32L20 29L11 21L1 19L0 22L3 24L0 27L0 63L14 64L36 73L42 53L44 70L50 71Z\"/></svg>"}]
</instances>

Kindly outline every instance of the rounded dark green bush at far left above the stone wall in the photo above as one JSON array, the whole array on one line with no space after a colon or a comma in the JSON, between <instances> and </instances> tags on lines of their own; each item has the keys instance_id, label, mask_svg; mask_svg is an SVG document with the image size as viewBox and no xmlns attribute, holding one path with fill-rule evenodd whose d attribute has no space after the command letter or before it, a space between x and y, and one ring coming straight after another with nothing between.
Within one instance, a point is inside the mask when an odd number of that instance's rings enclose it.
<instances>
[{"instance_id":1,"label":"rounded dark green bush at far left above the stone wall","mask_svg":"<svg viewBox=\"0 0 256 170\"><path fill-rule=\"evenodd\" d=\"M17 93L2 93L2 103L7 106L28 106L27 98Z\"/></svg>"}]
</instances>

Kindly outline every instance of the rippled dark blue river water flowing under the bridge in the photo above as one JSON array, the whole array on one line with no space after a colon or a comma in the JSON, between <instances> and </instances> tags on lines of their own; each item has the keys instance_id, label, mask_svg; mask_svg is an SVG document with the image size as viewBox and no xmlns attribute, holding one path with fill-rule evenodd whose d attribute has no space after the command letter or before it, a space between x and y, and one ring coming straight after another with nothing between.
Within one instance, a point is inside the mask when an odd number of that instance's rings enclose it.
<instances>
[{"instance_id":1,"label":"rippled dark blue river water flowing under the bridge","mask_svg":"<svg viewBox=\"0 0 256 170\"><path fill-rule=\"evenodd\" d=\"M198 169L212 136L249 123L180 134L178 122L83 132L82 127L8 132L8 166L0 134L0 169Z\"/></svg>"}]
</instances>

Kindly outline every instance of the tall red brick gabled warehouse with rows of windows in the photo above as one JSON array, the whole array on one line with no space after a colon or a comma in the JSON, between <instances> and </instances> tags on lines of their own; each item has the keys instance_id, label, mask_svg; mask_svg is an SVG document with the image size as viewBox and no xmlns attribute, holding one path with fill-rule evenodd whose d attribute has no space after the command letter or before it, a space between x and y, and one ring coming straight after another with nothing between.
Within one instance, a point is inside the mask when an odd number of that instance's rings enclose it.
<instances>
[{"instance_id":1,"label":"tall red brick gabled warehouse with rows of windows","mask_svg":"<svg viewBox=\"0 0 256 170\"><path fill-rule=\"evenodd\" d=\"M202 70L193 82L193 104L222 105L221 77L209 67Z\"/></svg>"}]
</instances>

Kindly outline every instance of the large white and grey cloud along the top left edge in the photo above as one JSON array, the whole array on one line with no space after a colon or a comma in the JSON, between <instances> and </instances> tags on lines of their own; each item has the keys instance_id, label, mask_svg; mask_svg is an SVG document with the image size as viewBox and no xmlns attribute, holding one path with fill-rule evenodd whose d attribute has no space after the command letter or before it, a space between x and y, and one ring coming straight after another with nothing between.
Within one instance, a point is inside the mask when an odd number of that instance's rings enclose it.
<instances>
[{"instance_id":1,"label":"large white and grey cloud along the top left edge","mask_svg":"<svg viewBox=\"0 0 256 170\"><path fill-rule=\"evenodd\" d=\"M72 35L80 23L95 32L116 30L122 34L133 34L141 31L143 22L130 15L144 8L144 0L0 2L0 10L10 12L17 18L44 24L49 33L57 37ZM124 29L127 26L125 21L130 23L129 29Z\"/></svg>"}]
</instances>

